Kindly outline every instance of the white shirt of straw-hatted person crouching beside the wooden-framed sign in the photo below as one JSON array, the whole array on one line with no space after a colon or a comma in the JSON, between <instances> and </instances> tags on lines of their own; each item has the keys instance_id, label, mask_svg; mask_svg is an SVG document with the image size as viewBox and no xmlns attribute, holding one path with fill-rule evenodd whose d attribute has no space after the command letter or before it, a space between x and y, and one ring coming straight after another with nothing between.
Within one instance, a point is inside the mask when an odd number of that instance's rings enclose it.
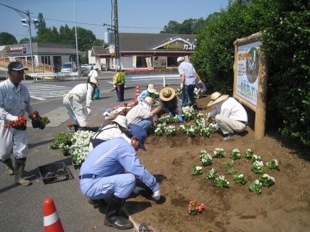
<instances>
[{"instance_id":1,"label":"white shirt of straw-hatted person crouching beside the wooden-framed sign","mask_svg":"<svg viewBox=\"0 0 310 232\"><path fill-rule=\"evenodd\" d=\"M237 121L248 122L248 114L244 107L233 97L228 97L222 104L217 104L217 113ZM220 108L220 110L219 110Z\"/></svg>"}]
</instances>

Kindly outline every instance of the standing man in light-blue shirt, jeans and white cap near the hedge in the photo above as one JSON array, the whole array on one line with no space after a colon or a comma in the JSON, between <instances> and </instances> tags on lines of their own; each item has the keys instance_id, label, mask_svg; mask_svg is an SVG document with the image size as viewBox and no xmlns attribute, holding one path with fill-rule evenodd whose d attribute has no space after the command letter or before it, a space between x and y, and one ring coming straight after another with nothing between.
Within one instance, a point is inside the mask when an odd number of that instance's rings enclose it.
<instances>
[{"instance_id":1,"label":"standing man in light-blue shirt, jeans and white cap near the hedge","mask_svg":"<svg viewBox=\"0 0 310 232\"><path fill-rule=\"evenodd\" d=\"M185 61L184 57L178 57L176 61L179 64L179 74L181 76L181 90L182 90L182 106L188 106L188 98L190 104L197 109L196 99L194 98L194 88L196 86L196 78L199 84L202 83L194 66L190 62Z\"/></svg>"}]
</instances>

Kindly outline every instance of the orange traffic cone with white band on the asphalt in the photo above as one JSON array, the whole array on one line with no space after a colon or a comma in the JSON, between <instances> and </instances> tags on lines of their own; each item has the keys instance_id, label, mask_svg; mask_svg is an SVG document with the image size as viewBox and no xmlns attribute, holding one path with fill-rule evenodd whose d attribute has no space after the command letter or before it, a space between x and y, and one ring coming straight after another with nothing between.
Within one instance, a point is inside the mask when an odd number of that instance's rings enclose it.
<instances>
[{"instance_id":1,"label":"orange traffic cone with white band on the asphalt","mask_svg":"<svg viewBox=\"0 0 310 232\"><path fill-rule=\"evenodd\" d=\"M44 209L44 232L64 232L62 222L56 211L52 198L46 198L43 202Z\"/></svg>"}]
</instances>

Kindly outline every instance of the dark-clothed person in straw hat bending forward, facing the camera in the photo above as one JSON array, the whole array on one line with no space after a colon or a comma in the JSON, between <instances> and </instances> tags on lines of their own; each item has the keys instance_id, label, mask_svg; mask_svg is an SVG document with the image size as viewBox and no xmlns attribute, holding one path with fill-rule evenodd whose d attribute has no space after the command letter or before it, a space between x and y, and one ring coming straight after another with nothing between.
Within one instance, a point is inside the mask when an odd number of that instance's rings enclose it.
<instances>
[{"instance_id":1,"label":"dark-clothed person in straw hat bending forward, facing the camera","mask_svg":"<svg viewBox=\"0 0 310 232\"><path fill-rule=\"evenodd\" d=\"M182 108L176 91L173 88L165 87L159 93L159 103L161 104L161 111L158 112L158 117L163 113L170 116L178 115L179 121L183 122Z\"/></svg>"}]
</instances>

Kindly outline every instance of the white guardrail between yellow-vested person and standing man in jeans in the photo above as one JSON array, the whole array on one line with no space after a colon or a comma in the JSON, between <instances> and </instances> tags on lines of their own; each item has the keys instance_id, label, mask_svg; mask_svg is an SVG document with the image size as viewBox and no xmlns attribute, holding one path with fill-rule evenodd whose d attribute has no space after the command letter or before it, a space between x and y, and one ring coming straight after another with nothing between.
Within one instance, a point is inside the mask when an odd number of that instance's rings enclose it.
<instances>
[{"instance_id":1,"label":"white guardrail between yellow-vested person and standing man in jeans","mask_svg":"<svg viewBox=\"0 0 310 232\"><path fill-rule=\"evenodd\" d=\"M166 86L167 81L172 82L170 84L180 84L180 75L177 74L168 74L168 75L144 75L144 76L136 76L136 75L126 75L126 81L136 81L136 83L141 84L143 81L150 83L154 81L163 81L163 87Z\"/></svg>"}]
</instances>

